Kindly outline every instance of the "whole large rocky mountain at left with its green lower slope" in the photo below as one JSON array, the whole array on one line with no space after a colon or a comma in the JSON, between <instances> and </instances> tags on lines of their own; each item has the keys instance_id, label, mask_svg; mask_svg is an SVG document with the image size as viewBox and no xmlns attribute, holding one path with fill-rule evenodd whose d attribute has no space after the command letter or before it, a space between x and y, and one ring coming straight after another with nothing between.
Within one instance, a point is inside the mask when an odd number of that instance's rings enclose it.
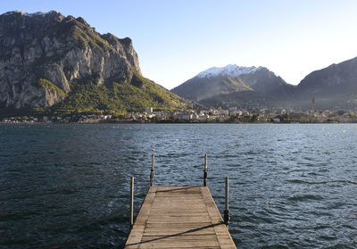
<instances>
[{"instance_id":1,"label":"whole large rocky mountain at left with its green lower slope","mask_svg":"<svg viewBox=\"0 0 357 249\"><path fill-rule=\"evenodd\" d=\"M0 108L130 111L189 104L145 79L129 37L60 12L0 15Z\"/></svg>"}]
</instances>

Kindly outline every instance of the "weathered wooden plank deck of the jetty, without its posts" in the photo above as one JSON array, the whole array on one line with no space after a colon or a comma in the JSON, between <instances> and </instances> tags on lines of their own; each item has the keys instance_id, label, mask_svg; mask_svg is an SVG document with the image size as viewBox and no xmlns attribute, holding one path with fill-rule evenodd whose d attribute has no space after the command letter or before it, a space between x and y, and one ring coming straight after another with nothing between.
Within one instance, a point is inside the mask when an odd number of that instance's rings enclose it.
<instances>
[{"instance_id":1,"label":"weathered wooden plank deck of the jetty, without its posts","mask_svg":"<svg viewBox=\"0 0 357 249\"><path fill-rule=\"evenodd\" d=\"M150 187L125 249L236 248L207 187Z\"/></svg>"}]
</instances>

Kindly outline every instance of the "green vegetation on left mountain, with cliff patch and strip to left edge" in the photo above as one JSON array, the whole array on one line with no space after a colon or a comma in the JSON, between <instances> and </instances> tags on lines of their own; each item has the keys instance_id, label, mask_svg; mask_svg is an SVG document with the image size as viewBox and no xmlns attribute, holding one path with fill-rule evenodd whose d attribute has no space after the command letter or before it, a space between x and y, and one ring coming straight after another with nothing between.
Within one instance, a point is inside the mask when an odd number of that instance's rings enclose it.
<instances>
[{"instance_id":1,"label":"green vegetation on left mountain, with cliff patch and strip to left edge","mask_svg":"<svg viewBox=\"0 0 357 249\"><path fill-rule=\"evenodd\" d=\"M46 92L62 95L64 100L48 108L3 108L0 117L46 116L73 113L112 113L120 116L128 112L144 112L145 107L155 111L184 111L192 108L192 103L170 93L165 88L134 72L131 82L110 82L97 84L100 75L86 81L71 82L71 92L66 94L47 79L38 79L34 87L43 87Z\"/></svg>"}]
</instances>

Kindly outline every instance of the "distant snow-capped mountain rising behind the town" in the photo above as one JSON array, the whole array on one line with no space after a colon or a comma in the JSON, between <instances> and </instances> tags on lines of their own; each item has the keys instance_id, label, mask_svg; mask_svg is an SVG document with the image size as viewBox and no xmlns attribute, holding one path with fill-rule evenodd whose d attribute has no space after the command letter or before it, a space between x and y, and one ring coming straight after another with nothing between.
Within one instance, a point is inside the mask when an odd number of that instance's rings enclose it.
<instances>
[{"instance_id":1,"label":"distant snow-capped mountain rising behind the town","mask_svg":"<svg viewBox=\"0 0 357 249\"><path fill-rule=\"evenodd\" d=\"M276 100L286 99L294 91L295 86L267 68L235 64L202 71L171 90L191 101L224 107L274 105Z\"/></svg>"}]
</instances>

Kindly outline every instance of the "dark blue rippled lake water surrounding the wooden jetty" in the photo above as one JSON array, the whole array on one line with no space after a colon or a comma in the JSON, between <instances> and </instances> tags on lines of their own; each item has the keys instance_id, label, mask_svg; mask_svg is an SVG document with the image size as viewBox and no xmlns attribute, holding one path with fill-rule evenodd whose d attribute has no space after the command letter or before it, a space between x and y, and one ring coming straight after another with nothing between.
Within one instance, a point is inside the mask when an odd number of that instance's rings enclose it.
<instances>
[{"instance_id":1,"label":"dark blue rippled lake water surrounding the wooden jetty","mask_svg":"<svg viewBox=\"0 0 357 249\"><path fill-rule=\"evenodd\" d=\"M238 248L357 248L357 125L1 124L0 248L121 248L157 185L203 183Z\"/></svg>"}]
</instances>

